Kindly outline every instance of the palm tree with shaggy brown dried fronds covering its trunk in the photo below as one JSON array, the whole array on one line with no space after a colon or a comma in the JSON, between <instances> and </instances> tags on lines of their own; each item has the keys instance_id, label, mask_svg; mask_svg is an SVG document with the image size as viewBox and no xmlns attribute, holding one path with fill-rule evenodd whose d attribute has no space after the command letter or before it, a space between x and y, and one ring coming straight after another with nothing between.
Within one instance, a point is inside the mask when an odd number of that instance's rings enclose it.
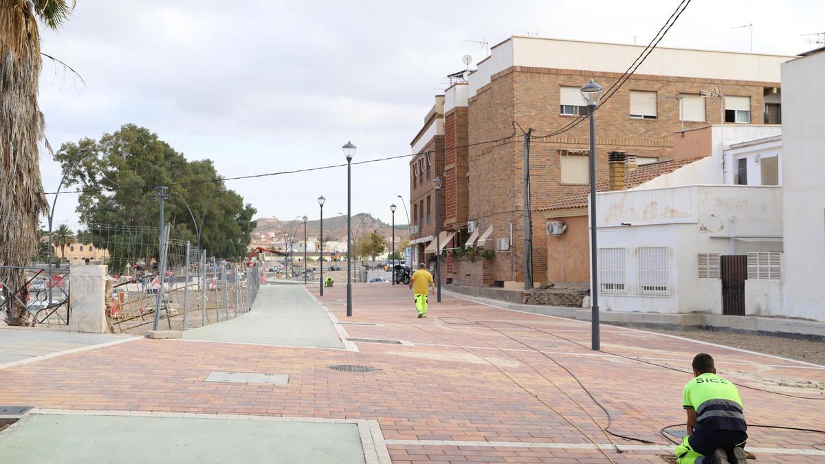
<instances>
[{"instance_id":1,"label":"palm tree with shaggy brown dried fronds covering its trunk","mask_svg":"<svg viewBox=\"0 0 825 464\"><path fill-rule=\"evenodd\" d=\"M44 140L37 103L40 33L37 21L56 29L72 12L71 0L0 0L0 265L22 267L37 245L39 216L49 210L40 182L38 144ZM10 325L26 324L25 273L0 268ZM18 298L11 298L16 292Z\"/></svg>"}]
</instances>

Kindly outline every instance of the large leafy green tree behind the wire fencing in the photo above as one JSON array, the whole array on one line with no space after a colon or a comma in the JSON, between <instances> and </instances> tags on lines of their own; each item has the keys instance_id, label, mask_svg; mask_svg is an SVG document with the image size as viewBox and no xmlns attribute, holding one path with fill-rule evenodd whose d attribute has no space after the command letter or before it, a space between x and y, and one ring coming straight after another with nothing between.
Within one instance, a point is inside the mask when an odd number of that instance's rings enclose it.
<instances>
[{"instance_id":1,"label":"large leafy green tree behind the wire fencing","mask_svg":"<svg viewBox=\"0 0 825 464\"><path fill-rule=\"evenodd\" d=\"M158 256L158 233L148 229L158 227L155 186L175 184L164 211L164 220L173 223L171 238L196 244L192 215L200 227L206 211L201 248L217 258L247 252L256 210L224 187L210 159L187 161L144 127L126 124L97 141L64 144L54 159L68 185L81 187L80 220L92 244L108 249L113 272L122 272L126 263L151 263Z\"/></svg>"}]
</instances>

